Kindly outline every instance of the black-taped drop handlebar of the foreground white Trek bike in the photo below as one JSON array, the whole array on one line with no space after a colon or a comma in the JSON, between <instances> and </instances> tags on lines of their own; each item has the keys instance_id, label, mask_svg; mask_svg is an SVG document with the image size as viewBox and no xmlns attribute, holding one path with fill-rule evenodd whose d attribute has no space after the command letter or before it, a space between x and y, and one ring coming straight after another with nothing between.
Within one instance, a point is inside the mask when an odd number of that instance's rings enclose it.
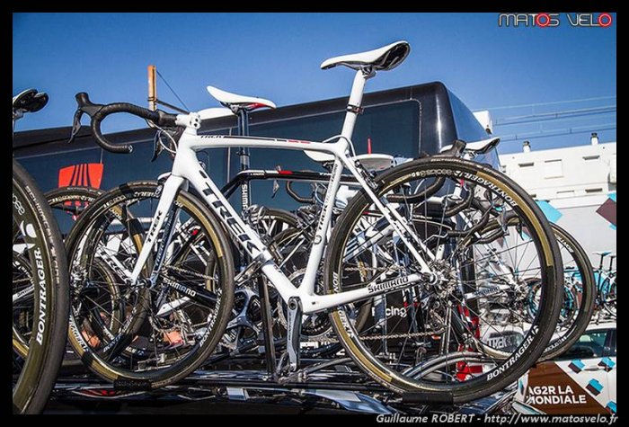
<instances>
[{"instance_id":1,"label":"black-taped drop handlebar of the foreground white Trek bike","mask_svg":"<svg viewBox=\"0 0 629 427\"><path fill-rule=\"evenodd\" d=\"M128 112L129 114L133 114L139 118L151 120L160 127L174 127L175 120L177 119L175 114L169 114L160 110L151 111L126 102L114 102L107 105L93 103L90 101L89 95L84 92L76 93L75 99L78 104L78 108L75 112L72 135L68 142L72 142L75 139L76 134L79 129L81 129L81 118L83 117L83 114L87 114L92 119L90 127L92 129L94 139L96 139L99 146L111 153L131 153L131 151L133 151L133 147L128 144L113 144L102 135L101 122L110 114Z\"/></svg>"}]
</instances>

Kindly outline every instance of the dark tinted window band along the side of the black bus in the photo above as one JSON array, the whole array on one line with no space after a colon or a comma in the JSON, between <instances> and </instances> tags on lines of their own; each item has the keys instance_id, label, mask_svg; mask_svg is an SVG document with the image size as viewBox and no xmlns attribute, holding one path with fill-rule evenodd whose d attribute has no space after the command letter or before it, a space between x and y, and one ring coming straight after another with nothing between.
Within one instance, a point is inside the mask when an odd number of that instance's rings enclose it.
<instances>
[{"instance_id":1,"label":"dark tinted window band along the side of the black bus","mask_svg":"<svg viewBox=\"0 0 629 427\"><path fill-rule=\"evenodd\" d=\"M367 141L370 138L373 153L405 157L418 156L419 105L419 102L409 100L366 108L363 114L359 116L354 130L353 143L357 154L367 153ZM341 132L344 117L345 112L338 111L297 119L271 120L265 123L252 124L250 133L255 136L321 141ZM208 133L229 134L230 131L235 134L234 128L215 129ZM115 155L103 152L99 148L88 148L47 153L42 156L19 157L19 161L40 183L43 191L57 188L59 170L70 165L102 162L102 190L109 190L123 182L156 179L161 173L170 171L172 162L167 153L163 153L155 162L150 162L153 155L152 140L146 139L136 142L133 147L133 153L130 155ZM228 156L226 148L205 150L199 152L198 156L199 160L207 166L212 179L217 182L218 186L227 182ZM232 149L229 158L231 159L229 173L233 176L239 171L237 149ZM252 168L274 169L278 165L289 170L323 170L321 165L313 162L301 152L252 149ZM86 184L86 182L79 183ZM275 198L271 198L271 189L272 182L253 182L253 202L285 209L297 207L297 202L290 199L283 190L279 191ZM297 184L296 189L306 194L309 191L309 186ZM237 206L235 200L238 200L237 191L231 200Z\"/></svg>"}]
</instances>

